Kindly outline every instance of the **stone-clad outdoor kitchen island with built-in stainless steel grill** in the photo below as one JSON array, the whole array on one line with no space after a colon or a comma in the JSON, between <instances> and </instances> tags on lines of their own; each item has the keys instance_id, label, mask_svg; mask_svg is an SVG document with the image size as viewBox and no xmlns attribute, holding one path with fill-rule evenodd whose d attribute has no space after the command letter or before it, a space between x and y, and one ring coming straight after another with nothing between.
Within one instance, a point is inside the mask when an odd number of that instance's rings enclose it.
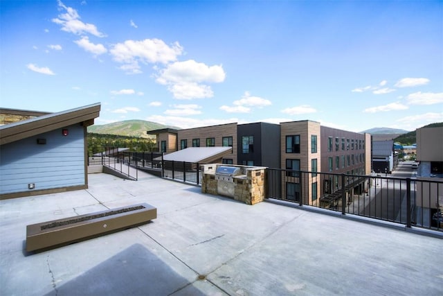
<instances>
[{"instance_id":1,"label":"stone-clad outdoor kitchen island with built-in stainless steel grill","mask_svg":"<svg viewBox=\"0 0 443 296\"><path fill-rule=\"evenodd\" d=\"M204 164L201 192L224 195L246 204L264 200L263 166L234 166L226 164Z\"/></svg>"}]
</instances>

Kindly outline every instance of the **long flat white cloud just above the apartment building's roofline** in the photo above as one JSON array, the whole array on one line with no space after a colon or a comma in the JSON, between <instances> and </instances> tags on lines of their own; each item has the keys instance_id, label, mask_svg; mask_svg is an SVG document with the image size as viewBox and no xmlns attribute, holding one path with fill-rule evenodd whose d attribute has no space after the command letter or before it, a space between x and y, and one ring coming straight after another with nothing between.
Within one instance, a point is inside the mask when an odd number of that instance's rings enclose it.
<instances>
[{"instance_id":1,"label":"long flat white cloud just above the apartment building's roofline","mask_svg":"<svg viewBox=\"0 0 443 296\"><path fill-rule=\"evenodd\" d=\"M147 121L154 121L164 125L174 125L179 128L199 128L201 126L219 125L226 123L241 123L238 119L195 119L192 117L180 116L161 116L153 115L146 119Z\"/></svg>"}]
</instances>

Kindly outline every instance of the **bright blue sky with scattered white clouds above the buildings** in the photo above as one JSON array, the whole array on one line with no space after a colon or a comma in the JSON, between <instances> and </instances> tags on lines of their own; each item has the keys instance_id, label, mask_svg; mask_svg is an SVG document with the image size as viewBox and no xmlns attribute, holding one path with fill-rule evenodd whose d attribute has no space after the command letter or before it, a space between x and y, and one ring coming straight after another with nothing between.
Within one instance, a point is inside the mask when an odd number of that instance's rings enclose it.
<instances>
[{"instance_id":1,"label":"bright blue sky with scattered white clouds above the buildings","mask_svg":"<svg viewBox=\"0 0 443 296\"><path fill-rule=\"evenodd\" d=\"M443 121L442 1L0 2L1 107L96 124Z\"/></svg>"}]
</instances>

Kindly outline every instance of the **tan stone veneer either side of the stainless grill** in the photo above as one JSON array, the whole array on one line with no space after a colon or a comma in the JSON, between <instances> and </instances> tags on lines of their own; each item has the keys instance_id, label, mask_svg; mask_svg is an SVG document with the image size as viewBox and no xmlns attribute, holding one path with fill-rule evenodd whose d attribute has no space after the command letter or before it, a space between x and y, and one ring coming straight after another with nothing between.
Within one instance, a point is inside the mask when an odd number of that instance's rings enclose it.
<instances>
[{"instance_id":1,"label":"tan stone veneer either side of the stainless grill","mask_svg":"<svg viewBox=\"0 0 443 296\"><path fill-rule=\"evenodd\" d=\"M215 180L215 171L220 164L205 164L204 175L201 180L201 192L219 195L217 190L217 180ZM264 167L242 167L245 175L234 177L234 199L246 204L256 204L262 202L265 198L265 180L266 168Z\"/></svg>"}]
</instances>

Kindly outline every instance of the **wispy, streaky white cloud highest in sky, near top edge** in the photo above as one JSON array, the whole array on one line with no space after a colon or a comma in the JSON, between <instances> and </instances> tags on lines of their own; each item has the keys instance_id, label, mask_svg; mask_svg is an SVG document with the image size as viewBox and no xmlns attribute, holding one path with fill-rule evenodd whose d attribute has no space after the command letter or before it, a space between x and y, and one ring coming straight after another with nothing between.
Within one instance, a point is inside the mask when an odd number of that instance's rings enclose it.
<instances>
[{"instance_id":1,"label":"wispy, streaky white cloud highest in sky, near top edge","mask_svg":"<svg viewBox=\"0 0 443 296\"><path fill-rule=\"evenodd\" d=\"M65 10L66 13L62 13L58 15L57 18L52 19L55 24L59 24L62 26L62 31L66 31L69 33L74 33L76 35L82 35L85 33L89 33L91 35L97 37L105 37L106 35L99 32L97 27L93 24L85 24L80 21L80 15L78 15L77 10L67 7L62 3L62 1L58 1L59 10Z\"/></svg>"}]
</instances>

